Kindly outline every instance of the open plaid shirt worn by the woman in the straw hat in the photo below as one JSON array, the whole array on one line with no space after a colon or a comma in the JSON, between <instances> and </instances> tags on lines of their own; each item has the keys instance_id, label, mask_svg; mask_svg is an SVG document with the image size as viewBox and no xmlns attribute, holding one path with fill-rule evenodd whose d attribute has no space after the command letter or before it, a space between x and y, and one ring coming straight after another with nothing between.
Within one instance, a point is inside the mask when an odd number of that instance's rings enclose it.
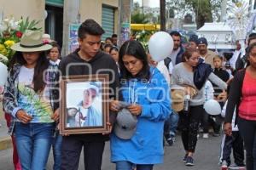
<instances>
[{"instance_id":1,"label":"open plaid shirt worn by the woman in the straw hat","mask_svg":"<svg viewBox=\"0 0 256 170\"><path fill-rule=\"evenodd\" d=\"M17 122L17 117L13 116L12 113L15 111L19 111L20 108L18 105L18 99L19 99L19 91L18 91L18 76L20 73L21 65L17 64L13 68L14 74L11 75L9 73L7 77L7 82L4 87L4 93L3 93L3 109L5 112L11 115L11 123L9 127L8 133L10 135L13 134L14 128L15 128L15 122ZM58 108L58 90L56 87L56 81L58 80L59 74L58 74L58 67L57 65L51 65L49 64L48 70L45 74L46 77L46 86L49 87L49 100L50 105L55 111L56 108Z\"/></svg>"}]
</instances>

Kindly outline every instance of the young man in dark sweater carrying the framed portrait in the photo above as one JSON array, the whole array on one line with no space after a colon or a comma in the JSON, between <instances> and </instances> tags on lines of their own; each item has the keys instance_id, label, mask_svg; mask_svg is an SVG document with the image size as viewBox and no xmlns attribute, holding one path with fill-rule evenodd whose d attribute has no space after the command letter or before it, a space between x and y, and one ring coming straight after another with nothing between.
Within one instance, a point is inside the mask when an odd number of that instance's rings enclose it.
<instances>
[{"instance_id":1,"label":"young man in dark sweater carrying the framed portrait","mask_svg":"<svg viewBox=\"0 0 256 170\"><path fill-rule=\"evenodd\" d=\"M119 90L119 71L113 58L100 51L102 26L95 20L85 20L79 26L79 48L61 59L62 76L83 76L91 74L107 74L109 77L109 98L115 99ZM68 68L68 69L67 69ZM116 114L110 111L111 127ZM61 169L75 170L79 168L81 150L84 148L84 169L101 170L102 154L108 134L88 133L63 136L61 146Z\"/></svg>"}]
</instances>

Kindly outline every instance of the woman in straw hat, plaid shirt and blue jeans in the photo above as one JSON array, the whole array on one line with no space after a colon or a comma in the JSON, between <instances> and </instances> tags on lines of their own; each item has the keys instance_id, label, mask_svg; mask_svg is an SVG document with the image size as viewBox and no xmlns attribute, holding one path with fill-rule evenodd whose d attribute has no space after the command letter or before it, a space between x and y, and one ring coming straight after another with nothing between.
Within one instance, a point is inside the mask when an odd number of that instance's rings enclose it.
<instances>
[{"instance_id":1,"label":"woman in straw hat, plaid shirt and blue jeans","mask_svg":"<svg viewBox=\"0 0 256 170\"><path fill-rule=\"evenodd\" d=\"M51 88L56 75L47 71L44 54L52 47L42 42L40 31L26 31L11 48L16 54L3 96L4 110L12 116L9 133L15 133L22 169L45 169L58 119Z\"/></svg>"}]
</instances>

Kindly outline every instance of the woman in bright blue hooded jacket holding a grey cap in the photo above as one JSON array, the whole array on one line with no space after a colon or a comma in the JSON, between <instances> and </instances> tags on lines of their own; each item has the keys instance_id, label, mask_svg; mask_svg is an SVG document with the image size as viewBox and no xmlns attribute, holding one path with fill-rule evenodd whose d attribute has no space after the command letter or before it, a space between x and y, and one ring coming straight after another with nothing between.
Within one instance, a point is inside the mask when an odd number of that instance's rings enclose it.
<instances>
[{"instance_id":1,"label":"woman in bright blue hooded jacket holding a grey cap","mask_svg":"<svg viewBox=\"0 0 256 170\"><path fill-rule=\"evenodd\" d=\"M168 83L160 71L148 65L147 54L137 41L122 45L119 68L121 94L131 118L120 111L122 102L111 102L110 109L119 111L111 135L111 161L117 170L151 170L163 162L163 127L171 113Z\"/></svg>"}]
</instances>

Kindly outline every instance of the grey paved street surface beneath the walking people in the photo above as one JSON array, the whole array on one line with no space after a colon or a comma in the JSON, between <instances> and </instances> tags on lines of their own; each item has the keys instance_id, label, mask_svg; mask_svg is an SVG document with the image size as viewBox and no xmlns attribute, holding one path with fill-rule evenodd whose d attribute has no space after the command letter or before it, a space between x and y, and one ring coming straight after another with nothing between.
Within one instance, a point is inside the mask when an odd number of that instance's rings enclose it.
<instances>
[{"instance_id":1,"label":"grey paved street surface beneath the walking people","mask_svg":"<svg viewBox=\"0 0 256 170\"><path fill-rule=\"evenodd\" d=\"M0 128L1 130L1 128ZM154 167L154 170L218 170L218 152L221 137L212 137L209 139L199 139L197 150L195 153L195 166L186 167L183 164L183 146L180 136L177 137L176 143L170 147L166 146L165 162L162 165ZM0 169L12 170L12 150L0 151ZM83 157L81 156L81 159ZM81 161L80 161L81 162ZM53 158L50 155L47 169L52 169ZM83 164L80 163L79 170L84 169ZM114 164L109 162L109 143L106 144L106 149L103 156L102 170L113 170Z\"/></svg>"}]
</instances>

